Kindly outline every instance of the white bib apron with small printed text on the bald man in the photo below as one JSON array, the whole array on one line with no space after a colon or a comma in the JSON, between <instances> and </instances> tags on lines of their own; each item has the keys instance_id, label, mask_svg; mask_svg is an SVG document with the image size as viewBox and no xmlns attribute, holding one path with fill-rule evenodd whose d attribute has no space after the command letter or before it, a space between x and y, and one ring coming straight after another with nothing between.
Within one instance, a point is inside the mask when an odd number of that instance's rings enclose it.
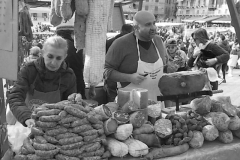
<instances>
[{"instance_id":1,"label":"white bib apron with small printed text on the bald man","mask_svg":"<svg viewBox=\"0 0 240 160\"><path fill-rule=\"evenodd\" d=\"M143 80L140 84L136 85L136 84L130 83L129 85L127 85L124 88L126 88L127 90L128 89L131 90L131 89L135 89L135 88L147 89L148 90L148 99L154 100L156 102L157 96L162 95L159 90L159 87L158 87L158 82L159 82L159 79L163 75L163 69L164 69L163 61L162 61L162 58L160 56L160 53L159 53L154 41L152 40L153 45L158 54L158 60L155 63L143 62L140 58L140 49L139 49L139 44L138 44L137 38L136 38L136 42L137 42L137 50L138 50L137 73L148 74L148 75L146 76L146 79Z\"/></svg>"}]
</instances>

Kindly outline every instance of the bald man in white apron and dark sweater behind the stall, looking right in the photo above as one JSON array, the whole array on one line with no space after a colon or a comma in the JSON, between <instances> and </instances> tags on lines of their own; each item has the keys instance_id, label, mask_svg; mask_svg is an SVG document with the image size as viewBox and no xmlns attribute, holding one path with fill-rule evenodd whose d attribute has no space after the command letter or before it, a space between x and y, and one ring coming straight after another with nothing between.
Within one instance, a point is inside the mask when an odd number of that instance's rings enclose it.
<instances>
[{"instance_id":1,"label":"bald man in white apron and dark sweater behind the stall, looking right","mask_svg":"<svg viewBox=\"0 0 240 160\"><path fill-rule=\"evenodd\" d=\"M120 82L127 90L148 89L149 99L156 101L167 54L161 37L156 35L155 21L150 12L135 14L134 32L115 40L107 52L104 77Z\"/></svg>"}]
</instances>

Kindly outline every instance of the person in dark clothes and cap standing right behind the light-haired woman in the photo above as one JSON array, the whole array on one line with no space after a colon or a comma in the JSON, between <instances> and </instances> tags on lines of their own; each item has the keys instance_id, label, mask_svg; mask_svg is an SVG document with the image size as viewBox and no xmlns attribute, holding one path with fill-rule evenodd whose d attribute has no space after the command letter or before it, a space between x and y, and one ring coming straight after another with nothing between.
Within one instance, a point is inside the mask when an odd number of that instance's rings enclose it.
<instances>
[{"instance_id":1,"label":"person in dark clothes and cap standing right behind the light-haired woman","mask_svg":"<svg viewBox=\"0 0 240 160\"><path fill-rule=\"evenodd\" d=\"M83 78L84 55L83 50L77 52L77 49L74 47L74 26L71 24L60 24L56 28L56 33L67 41L68 50L65 61L76 75L77 93L81 93L82 98L86 99L86 86Z\"/></svg>"}]
</instances>

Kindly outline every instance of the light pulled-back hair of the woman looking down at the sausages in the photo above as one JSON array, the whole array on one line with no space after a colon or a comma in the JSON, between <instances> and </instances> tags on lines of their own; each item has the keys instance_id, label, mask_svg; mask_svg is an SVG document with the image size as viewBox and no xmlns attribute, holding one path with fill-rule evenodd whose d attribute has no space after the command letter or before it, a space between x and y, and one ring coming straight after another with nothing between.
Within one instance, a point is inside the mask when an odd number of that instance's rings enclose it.
<instances>
[{"instance_id":1,"label":"light pulled-back hair of the woman looking down at the sausages","mask_svg":"<svg viewBox=\"0 0 240 160\"><path fill-rule=\"evenodd\" d=\"M46 50L47 46L51 46L57 49L63 49L66 53L68 50L67 41L60 36L49 37L43 44L43 51Z\"/></svg>"}]
</instances>

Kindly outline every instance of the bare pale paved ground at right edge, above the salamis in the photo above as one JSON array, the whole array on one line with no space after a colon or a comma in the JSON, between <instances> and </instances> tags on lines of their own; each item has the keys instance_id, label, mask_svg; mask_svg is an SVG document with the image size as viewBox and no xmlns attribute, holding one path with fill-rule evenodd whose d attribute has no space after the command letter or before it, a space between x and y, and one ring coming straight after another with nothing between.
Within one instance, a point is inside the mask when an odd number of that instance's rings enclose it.
<instances>
[{"instance_id":1,"label":"bare pale paved ground at right edge, above the salamis","mask_svg":"<svg viewBox=\"0 0 240 160\"><path fill-rule=\"evenodd\" d=\"M233 77L226 75L227 83L219 85L219 89L223 90L223 93L215 94L214 96L223 95L230 96L232 104L240 106L240 69L234 69Z\"/></svg>"}]
</instances>

